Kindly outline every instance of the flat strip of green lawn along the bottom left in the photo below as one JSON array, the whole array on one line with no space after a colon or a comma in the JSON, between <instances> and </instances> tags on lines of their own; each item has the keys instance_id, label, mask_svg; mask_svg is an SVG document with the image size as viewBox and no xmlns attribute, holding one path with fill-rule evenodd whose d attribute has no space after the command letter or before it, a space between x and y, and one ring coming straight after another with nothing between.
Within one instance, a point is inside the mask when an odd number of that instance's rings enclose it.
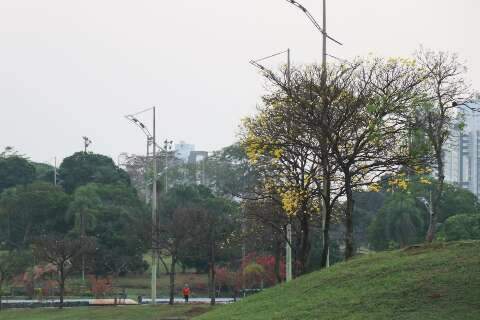
<instances>
[{"instance_id":1,"label":"flat strip of green lawn along the bottom left","mask_svg":"<svg viewBox=\"0 0 480 320\"><path fill-rule=\"evenodd\" d=\"M160 320L191 319L210 310L207 305L117 306L0 311L1 320Z\"/></svg>"}]
</instances>

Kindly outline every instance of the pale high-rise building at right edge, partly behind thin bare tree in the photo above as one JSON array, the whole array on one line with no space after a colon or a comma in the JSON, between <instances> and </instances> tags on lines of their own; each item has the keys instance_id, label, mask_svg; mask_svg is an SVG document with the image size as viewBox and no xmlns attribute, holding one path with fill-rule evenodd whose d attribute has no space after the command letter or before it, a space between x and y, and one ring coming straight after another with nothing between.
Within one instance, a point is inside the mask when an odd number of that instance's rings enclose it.
<instances>
[{"instance_id":1,"label":"pale high-rise building at right edge, partly behind thin bare tree","mask_svg":"<svg viewBox=\"0 0 480 320\"><path fill-rule=\"evenodd\" d=\"M472 110L473 109L473 110ZM480 104L460 109L463 130L454 129L444 150L445 181L480 196Z\"/></svg>"}]
</instances>

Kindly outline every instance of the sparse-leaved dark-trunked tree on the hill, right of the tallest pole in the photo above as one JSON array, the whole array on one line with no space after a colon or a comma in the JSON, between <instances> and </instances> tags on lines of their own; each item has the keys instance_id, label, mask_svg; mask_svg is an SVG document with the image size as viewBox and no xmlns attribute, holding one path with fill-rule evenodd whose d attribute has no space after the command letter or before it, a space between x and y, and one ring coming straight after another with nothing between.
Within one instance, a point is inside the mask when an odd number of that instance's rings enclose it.
<instances>
[{"instance_id":1,"label":"sparse-leaved dark-trunked tree on the hill, right of the tallest pole","mask_svg":"<svg viewBox=\"0 0 480 320\"><path fill-rule=\"evenodd\" d=\"M348 94L332 104L334 130L324 131L343 174L346 259L354 255L355 188L417 162L401 115L414 108L424 77L410 61L373 59L361 61L351 79Z\"/></svg>"}]
</instances>

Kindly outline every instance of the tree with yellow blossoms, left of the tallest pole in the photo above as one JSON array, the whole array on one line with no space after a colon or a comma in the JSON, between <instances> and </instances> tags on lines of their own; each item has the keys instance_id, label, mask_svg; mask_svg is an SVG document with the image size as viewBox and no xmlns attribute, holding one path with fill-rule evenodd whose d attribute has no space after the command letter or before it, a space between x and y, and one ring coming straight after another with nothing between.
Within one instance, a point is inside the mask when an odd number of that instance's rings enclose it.
<instances>
[{"instance_id":1,"label":"tree with yellow blossoms, left of the tallest pole","mask_svg":"<svg viewBox=\"0 0 480 320\"><path fill-rule=\"evenodd\" d=\"M314 153L299 141L307 137L289 117L288 99L265 99L255 117L243 121L242 145L260 175L260 192L276 199L296 226L298 273L306 272L311 249L311 221L320 207L314 177Z\"/></svg>"}]
</instances>

